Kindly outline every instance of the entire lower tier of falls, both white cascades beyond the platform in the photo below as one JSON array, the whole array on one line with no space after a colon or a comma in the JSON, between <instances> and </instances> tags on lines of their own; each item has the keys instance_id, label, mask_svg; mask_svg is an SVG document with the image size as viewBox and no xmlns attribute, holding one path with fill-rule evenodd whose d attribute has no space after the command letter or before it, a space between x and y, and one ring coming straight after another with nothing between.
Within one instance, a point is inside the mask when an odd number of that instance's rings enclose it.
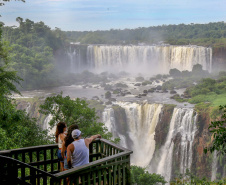
<instances>
[{"instance_id":1,"label":"entire lower tier of falls, both white cascades beyond the platform","mask_svg":"<svg viewBox=\"0 0 226 185\"><path fill-rule=\"evenodd\" d=\"M128 135L132 140L131 146L126 146L126 137L122 135L121 145L133 150L131 162L138 166L147 167L151 164L153 154L155 152L155 128L159 122L159 116L163 105L161 104L138 104L129 102L117 102L117 105L124 108ZM191 168L192 164L192 143L194 141L197 115L190 108L174 108L170 121L169 132L166 137L165 144L158 149L157 167L150 165L148 170L151 173L158 173L165 177L166 181L170 181L173 164L174 141L176 135L180 134L179 143L179 161L178 166L180 173L184 174L186 169ZM105 125L114 135L118 133L115 121L114 110L106 108L103 113ZM119 136L121 138L121 136ZM178 144L177 144L178 145Z\"/></svg>"}]
</instances>

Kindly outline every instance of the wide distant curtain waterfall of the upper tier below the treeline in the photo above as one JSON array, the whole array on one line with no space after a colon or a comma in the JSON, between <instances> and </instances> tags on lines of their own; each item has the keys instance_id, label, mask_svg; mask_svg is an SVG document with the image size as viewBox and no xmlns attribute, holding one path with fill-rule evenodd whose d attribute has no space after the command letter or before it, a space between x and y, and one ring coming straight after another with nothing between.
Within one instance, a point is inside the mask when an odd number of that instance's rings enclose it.
<instances>
[{"instance_id":1,"label":"wide distant curtain waterfall of the upper tier below the treeline","mask_svg":"<svg viewBox=\"0 0 226 185\"><path fill-rule=\"evenodd\" d=\"M212 49L202 46L115 46L115 45L89 45L86 49L86 62L83 68L104 69L128 68L144 72L152 70L159 73L168 73L169 69L192 70L195 64L201 64L204 70L211 71ZM71 68L81 68L78 57L80 50L75 48L69 52Z\"/></svg>"}]
</instances>

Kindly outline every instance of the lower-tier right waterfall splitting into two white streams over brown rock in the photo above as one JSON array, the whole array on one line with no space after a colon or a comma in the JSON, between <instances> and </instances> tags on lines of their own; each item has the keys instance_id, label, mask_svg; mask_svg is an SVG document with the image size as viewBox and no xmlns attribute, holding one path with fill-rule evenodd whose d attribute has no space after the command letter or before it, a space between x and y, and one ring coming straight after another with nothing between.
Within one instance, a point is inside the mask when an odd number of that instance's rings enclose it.
<instances>
[{"instance_id":1,"label":"lower-tier right waterfall splitting into two white streams over brown rock","mask_svg":"<svg viewBox=\"0 0 226 185\"><path fill-rule=\"evenodd\" d=\"M163 175L166 181L170 181L172 172L172 158L174 149L174 137L179 133L180 141L180 173L184 174L190 169L192 163L192 143L194 141L196 118L193 116L193 109L175 108L170 128L164 146L160 149L160 160L157 173Z\"/></svg>"}]
</instances>

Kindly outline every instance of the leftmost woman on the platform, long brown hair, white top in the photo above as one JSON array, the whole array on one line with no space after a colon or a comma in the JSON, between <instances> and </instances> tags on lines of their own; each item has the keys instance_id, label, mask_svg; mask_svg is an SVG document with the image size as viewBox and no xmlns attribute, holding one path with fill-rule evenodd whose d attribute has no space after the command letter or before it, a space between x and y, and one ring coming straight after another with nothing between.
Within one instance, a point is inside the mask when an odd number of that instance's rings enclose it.
<instances>
[{"instance_id":1,"label":"leftmost woman on the platform, long brown hair, white top","mask_svg":"<svg viewBox=\"0 0 226 185\"><path fill-rule=\"evenodd\" d=\"M61 156L61 148L62 148L62 143L63 143L64 138L65 138L66 130L67 130L66 123L59 122L57 124L55 139L56 139L56 143L58 143L57 157L58 157L58 160L60 161L60 171L64 171L64 159Z\"/></svg>"}]
</instances>

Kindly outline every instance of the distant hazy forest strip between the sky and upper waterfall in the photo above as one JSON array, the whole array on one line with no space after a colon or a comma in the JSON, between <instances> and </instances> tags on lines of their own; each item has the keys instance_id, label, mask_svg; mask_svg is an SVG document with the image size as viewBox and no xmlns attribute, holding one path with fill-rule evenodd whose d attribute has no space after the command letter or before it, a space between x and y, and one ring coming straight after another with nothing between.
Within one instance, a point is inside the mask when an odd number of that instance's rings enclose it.
<instances>
[{"instance_id":1,"label":"distant hazy forest strip between the sky and upper waterfall","mask_svg":"<svg viewBox=\"0 0 226 185\"><path fill-rule=\"evenodd\" d=\"M162 25L109 31L67 31L81 44L159 44L226 47L226 23Z\"/></svg>"}]
</instances>

